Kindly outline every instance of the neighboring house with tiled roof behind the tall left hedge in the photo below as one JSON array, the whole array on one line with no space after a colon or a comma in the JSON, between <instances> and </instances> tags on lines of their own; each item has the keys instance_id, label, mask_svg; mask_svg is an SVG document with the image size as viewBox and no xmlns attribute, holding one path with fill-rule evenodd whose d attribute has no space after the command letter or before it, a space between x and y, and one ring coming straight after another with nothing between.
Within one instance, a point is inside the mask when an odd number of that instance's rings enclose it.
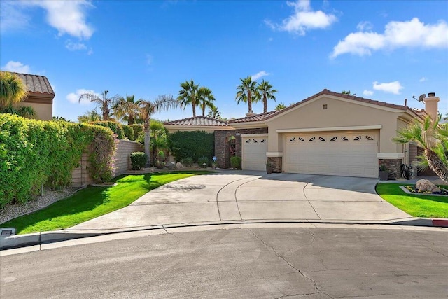
<instances>
[{"instance_id":1,"label":"neighboring house with tiled roof behind the tall left hedge","mask_svg":"<svg viewBox=\"0 0 448 299\"><path fill-rule=\"evenodd\" d=\"M36 112L36 119L51 120L53 116L53 91L48 78L40 75L13 73L27 85L28 97L18 106L30 106Z\"/></svg>"}]
</instances>

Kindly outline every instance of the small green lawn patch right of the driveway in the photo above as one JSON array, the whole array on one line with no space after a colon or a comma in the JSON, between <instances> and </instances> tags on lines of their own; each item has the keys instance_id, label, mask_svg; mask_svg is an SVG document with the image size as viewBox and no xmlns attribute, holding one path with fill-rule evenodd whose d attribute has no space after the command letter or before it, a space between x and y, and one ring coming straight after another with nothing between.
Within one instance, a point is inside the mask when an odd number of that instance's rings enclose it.
<instances>
[{"instance_id":1,"label":"small green lawn patch right of the driveway","mask_svg":"<svg viewBox=\"0 0 448 299\"><path fill-rule=\"evenodd\" d=\"M448 186L442 186L448 189ZM448 218L448 197L412 195L401 190L398 183L379 183L377 193L382 199L414 217Z\"/></svg>"}]
</instances>

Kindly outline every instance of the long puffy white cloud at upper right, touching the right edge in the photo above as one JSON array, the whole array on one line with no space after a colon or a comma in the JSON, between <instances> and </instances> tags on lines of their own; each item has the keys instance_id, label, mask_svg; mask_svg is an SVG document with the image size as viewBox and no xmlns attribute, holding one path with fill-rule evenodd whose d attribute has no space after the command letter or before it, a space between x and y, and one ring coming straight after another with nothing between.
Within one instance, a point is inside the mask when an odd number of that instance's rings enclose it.
<instances>
[{"instance_id":1,"label":"long puffy white cloud at upper right, touching the right edge","mask_svg":"<svg viewBox=\"0 0 448 299\"><path fill-rule=\"evenodd\" d=\"M425 25L418 18L407 22L388 22L384 33L353 32L339 41L332 58L345 53L371 55L372 51L395 48L448 48L448 25L441 20Z\"/></svg>"}]
</instances>

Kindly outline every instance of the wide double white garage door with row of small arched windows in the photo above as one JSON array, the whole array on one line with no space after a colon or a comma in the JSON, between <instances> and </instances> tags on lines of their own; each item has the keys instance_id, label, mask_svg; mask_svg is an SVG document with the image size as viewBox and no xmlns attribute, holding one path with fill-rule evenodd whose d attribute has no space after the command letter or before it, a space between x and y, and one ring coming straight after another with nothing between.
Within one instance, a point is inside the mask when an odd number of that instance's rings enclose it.
<instances>
[{"instance_id":1,"label":"wide double white garage door with row of small arched windows","mask_svg":"<svg viewBox=\"0 0 448 299\"><path fill-rule=\"evenodd\" d=\"M285 172L378 177L378 133L286 136Z\"/></svg>"}]
</instances>

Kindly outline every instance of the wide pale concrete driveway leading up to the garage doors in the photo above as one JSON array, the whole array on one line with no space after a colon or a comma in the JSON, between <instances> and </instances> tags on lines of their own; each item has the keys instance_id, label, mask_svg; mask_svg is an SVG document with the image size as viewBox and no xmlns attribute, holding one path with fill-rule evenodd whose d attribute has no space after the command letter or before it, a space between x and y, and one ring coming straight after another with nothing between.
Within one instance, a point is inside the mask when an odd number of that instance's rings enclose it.
<instances>
[{"instance_id":1,"label":"wide pale concrete driveway leading up to the garage doors","mask_svg":"<svg viewBox=\"0 0 448 299\"><path fill-rule=\"evenodd\" d=\"M69 230L251 221L379 223L412 218L375 193L377 181L223 171L169 183L128 207Z\"/></svg>"}]
</instances>

